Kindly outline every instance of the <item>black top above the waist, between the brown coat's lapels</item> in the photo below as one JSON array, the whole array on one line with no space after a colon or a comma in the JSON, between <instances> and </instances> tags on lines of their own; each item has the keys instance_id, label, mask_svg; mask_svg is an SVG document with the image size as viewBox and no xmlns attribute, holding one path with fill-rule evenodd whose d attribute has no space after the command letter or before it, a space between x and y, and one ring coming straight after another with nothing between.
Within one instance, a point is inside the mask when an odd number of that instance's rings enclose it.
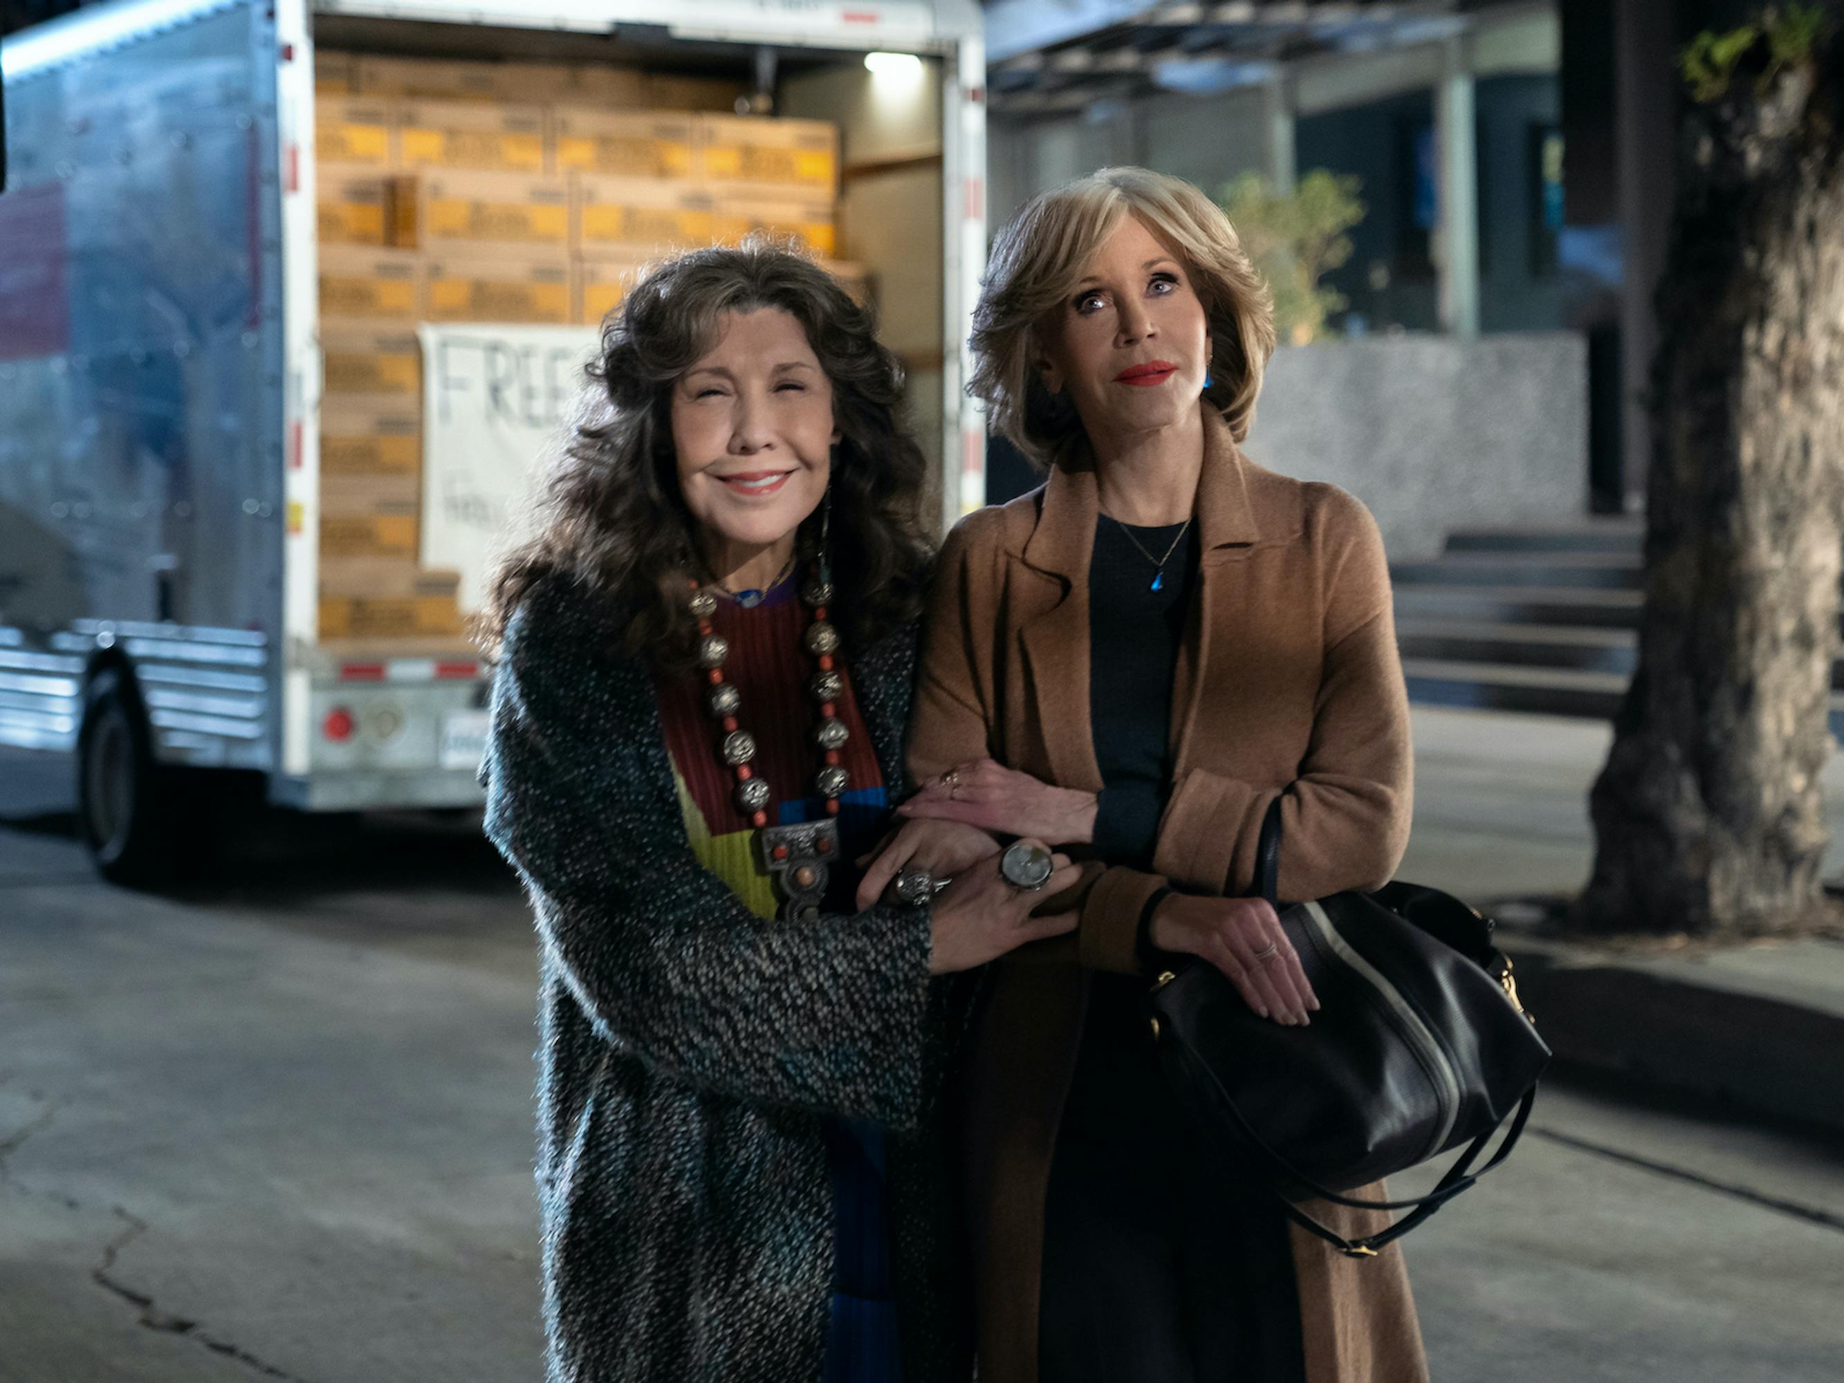
<instances>
[{"instance_id":1,"label":"black top above the waist, between the brown coat's lapels","mask_svg":"<svg viewBox=\"0 0 1844 1383\"><path fill-rule=\"evenodd\" d=\"M1199 559L1197 524L1182 538L1178 527L1129 527L1106 514L1095 524L1088 566L1088 719L1105 787L1093 848L1110 865L1151 869L1171 789L1173 677ZM1178 546L1160 573L1147 553L1165 557L1175 538Z\"/></svg>"}]
</instances>

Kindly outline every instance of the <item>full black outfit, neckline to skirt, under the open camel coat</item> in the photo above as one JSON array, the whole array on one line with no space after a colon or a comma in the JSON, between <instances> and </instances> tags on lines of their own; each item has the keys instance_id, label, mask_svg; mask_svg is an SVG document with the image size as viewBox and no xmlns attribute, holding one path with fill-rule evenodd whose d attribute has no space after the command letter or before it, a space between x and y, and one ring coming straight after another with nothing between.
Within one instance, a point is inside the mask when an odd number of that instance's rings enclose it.
<instances>
[{"instance_id":1,"label":"full black outfit, neckline to skirt, under the open camel coat","mask_svg":"<svg viewBox=\"0 0 1844 1383\"><path fill-rule=\"evenodd\" d=\"M1178 526L1132 529L1164 557ZM1103 516L1088 577L1093 854L1151 869L1171 697L1197 586L1193 526L1154 564ZM1095 974L1044 1208L1042 1383L1302 1383L1287 1221L1204 1149L1165 1088L1145 981Z\"/></svg>"}]
</instances>

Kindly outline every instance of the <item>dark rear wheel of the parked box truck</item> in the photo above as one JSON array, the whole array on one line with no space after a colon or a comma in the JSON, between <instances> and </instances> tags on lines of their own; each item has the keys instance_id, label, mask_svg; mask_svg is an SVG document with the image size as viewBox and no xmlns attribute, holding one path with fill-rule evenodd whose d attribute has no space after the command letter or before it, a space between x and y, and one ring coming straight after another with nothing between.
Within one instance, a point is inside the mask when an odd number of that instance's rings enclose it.
<instances>
[{"instance_id":1,"label":"dark rear wheel of the parked box truck","mask_svg":"<svg viewBox=\"0 0 1844 1383\"><path fill-rule=\"evenodd\" d=\"M148 721L129 680L105 671L89 686L77 736L77 815L83 843L111 883L153 883L175 867L171 773L153 762Z\"/></svg>"}]
</instances>

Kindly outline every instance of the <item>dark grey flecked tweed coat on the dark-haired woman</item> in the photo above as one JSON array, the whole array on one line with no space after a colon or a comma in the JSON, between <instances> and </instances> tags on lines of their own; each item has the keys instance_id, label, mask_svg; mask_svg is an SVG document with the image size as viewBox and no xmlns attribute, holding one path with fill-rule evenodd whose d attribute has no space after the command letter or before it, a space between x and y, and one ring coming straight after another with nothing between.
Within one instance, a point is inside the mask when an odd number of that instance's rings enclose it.
<instances>
[{"instance_id":1,"label":"dark grey flecked tweed coat on the dark-haired woman","mask_svg":"<svg viewBox=\"0 0 1844 1383\"><path fill-rule=\"evenodd\" d=\"M564 579L513 618L481 780L537 915L551 1383L817 1379L833 1274L822 1114L891 1130L905 1383L972 1372L939 1084L966 987L926 909L765 922L692 856L651 675ZM915 629L852 658L892 795Z\"/></svg>"}]
</instances>

